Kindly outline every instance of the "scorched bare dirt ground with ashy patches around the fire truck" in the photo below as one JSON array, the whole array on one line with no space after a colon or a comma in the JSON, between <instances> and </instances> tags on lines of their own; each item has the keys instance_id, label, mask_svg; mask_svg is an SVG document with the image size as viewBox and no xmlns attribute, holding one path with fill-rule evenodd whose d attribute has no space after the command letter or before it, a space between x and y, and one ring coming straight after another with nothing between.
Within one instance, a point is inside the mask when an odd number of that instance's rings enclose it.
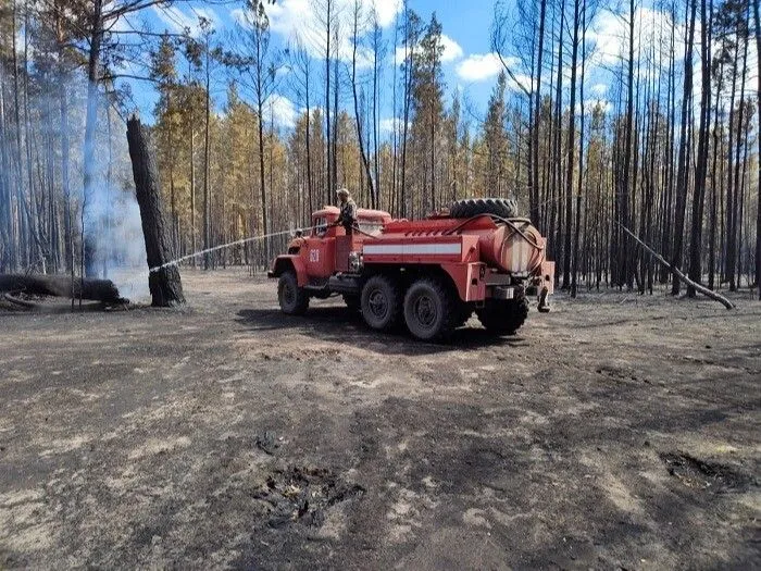
<instances>
[{"instance_id":1,"label":"scorched bare dirt ground with ashy patches around the fire truck","mask_svg":"<svg viewBox=\"0 0 761 571\"><path fill-rule=\"evenodd\" d=\"M0 314L0 568L761 566L761 303L585 295L451 345L190 307Z\"/></svg>"}]
</instances>

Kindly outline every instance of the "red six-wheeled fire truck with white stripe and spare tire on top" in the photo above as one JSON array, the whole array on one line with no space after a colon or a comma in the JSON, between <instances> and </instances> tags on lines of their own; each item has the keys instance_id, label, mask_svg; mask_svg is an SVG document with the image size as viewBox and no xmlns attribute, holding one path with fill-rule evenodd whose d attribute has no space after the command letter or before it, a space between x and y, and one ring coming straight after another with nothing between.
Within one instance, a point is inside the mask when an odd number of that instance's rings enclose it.
<instances>
[{"instance_id":1,"label":"red six-wheeled fire truck with white stripe and spare tire on top","mask_svg":"<svg viewBox=\"0 0 761 571\"><path fill-rule=\"evenodd\" d=\"M529 296L539 311L549 310L554 262L512 201L461 200L416 221L359 209L349 235L335 224L338 213L314 212L309 235L295 237L273 262L267 275L278 280L284 313L303 314L311 298L340 295L374 330L403 322L419 339L435 340L473 312L487 331L512 335L528 314Z\"/></svg>"}]
</instances>

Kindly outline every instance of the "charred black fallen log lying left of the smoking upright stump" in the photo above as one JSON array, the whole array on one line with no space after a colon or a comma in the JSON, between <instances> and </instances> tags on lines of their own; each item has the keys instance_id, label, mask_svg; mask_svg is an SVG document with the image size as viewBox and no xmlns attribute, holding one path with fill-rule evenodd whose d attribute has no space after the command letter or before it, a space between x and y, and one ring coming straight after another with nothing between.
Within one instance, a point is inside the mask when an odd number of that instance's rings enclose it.
<instances>
[{"instance_id":1,"label":"charred black fallen log lying left of the smoking upright stump","mask_svg":"<svg viewBox=\"0 0 761 571\"><path fill-rule=\"evenodd\" d=\"M0 291L23 291L34 296L79 298L105 303L122 303L124 299L111 280L86 277L75 280L68 275L0 274Z\"/></svg>"}]
</instances>

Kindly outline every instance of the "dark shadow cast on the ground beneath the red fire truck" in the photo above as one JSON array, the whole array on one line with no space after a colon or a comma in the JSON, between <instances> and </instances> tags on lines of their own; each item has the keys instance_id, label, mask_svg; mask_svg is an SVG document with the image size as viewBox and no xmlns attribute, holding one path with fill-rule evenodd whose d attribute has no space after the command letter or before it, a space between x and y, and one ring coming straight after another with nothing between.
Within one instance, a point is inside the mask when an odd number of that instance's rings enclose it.
<instances>
[{"instance_id":1,"label":"dark shadow cast on the ground beneath the red fire truck","mask_svg":"<svg viewBox=\"0 0 761 571\"><path fill-rule=\"evenodd\" d=\"M483 347L528 346L528 342L521 336L497 337L472 324L472 321L456 330L446 342L420 342L403 325L390 333L373 331L359 312L339 306L310 308L303 316L285 315L279 309L244 309L238 311L235 321L255 332L292 330L294 333L326 342L391 355L414 356L478 350Z\"/></svg>"}]
</instances>

